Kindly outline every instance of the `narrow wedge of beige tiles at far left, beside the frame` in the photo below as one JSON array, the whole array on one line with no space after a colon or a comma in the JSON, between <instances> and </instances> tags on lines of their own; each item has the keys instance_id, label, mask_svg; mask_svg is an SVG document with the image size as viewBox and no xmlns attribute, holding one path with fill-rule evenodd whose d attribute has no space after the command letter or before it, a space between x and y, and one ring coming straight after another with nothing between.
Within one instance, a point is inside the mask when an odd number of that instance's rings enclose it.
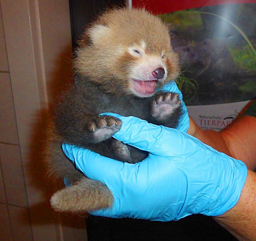
<instances>
[{"instance_id":1,"label":"narrow wedge of beige tiles at far left, beside the frame","mask_svg":"<svg viewBox=\"0 0 256 241\"><path fill-rule=\"evenodd\" d=\"M33 240L0 6L0 240Z\"/></svg>"}]
</instances>

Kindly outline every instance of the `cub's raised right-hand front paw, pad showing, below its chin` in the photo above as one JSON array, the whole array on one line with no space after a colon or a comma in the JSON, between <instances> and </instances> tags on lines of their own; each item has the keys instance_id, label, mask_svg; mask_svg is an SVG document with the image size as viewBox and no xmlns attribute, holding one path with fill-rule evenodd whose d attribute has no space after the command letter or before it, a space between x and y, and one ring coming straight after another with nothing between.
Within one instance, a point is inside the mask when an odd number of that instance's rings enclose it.
<instances>
[{"instance_id":1,"label":"cub's raised right-hand front paw, pad showing, below its chin","mask_svg":"<svg viewBox=\"0 0 256 241\"><path fill-rule=\"evenodd\" d=\"M180 104L181 100L177 93L163 93L156 96L156 99L153 101L151 115L158 120L163 120L179 108Z\"/></svg>"}]
</instances>

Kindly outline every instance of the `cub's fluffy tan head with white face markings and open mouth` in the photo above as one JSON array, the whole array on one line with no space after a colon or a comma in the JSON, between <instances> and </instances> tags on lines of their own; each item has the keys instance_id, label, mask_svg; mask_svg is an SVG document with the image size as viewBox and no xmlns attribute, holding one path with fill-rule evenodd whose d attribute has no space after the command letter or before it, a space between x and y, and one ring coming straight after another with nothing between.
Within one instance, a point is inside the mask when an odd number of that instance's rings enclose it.
<instances>
[{"instance_id":1,"label":"cub's fluffy tan head with white face markings and open mouth","mask_svg":"<svg viewBox=\"0 0 256 241\"><path fill-rule=\"evenodd\" d=\"M175 79L178 57L167 27L143 9L108 11L84 33L75 69L116 94L149 97Z\"/></svg>"}]
</instances>

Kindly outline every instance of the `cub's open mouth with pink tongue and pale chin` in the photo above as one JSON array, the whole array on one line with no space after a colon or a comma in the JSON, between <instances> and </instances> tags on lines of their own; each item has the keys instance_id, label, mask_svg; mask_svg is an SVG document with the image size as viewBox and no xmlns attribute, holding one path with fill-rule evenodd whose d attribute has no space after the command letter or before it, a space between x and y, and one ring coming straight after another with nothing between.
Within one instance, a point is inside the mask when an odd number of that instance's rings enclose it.
<instances>
[{"instance_id":1,"label":"cub's open mouth with pink tongue and pale chin","mask_svg":"<svg viewBox=\"0 0 256 241\"><path fill-rule=\"evenodd\" d=\"M154 93L157 80L138 80L132 79L132 88L142 96L148 96Z\"/></svg>"}]
</instances>

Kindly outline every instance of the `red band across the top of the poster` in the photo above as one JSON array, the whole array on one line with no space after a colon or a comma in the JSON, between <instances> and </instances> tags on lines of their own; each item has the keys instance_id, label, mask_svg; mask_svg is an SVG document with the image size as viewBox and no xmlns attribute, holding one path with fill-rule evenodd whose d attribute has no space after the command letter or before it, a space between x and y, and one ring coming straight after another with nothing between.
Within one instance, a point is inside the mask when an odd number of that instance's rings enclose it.
<instances>
[{"instance_id":1,"label":"red band across the top of the poster","mask_svg":"<svg viewBox=\"0 0 256 241\"><path fill-rule=\"evenodd\" d=\"M202 6L243 3L256 3L256 0L132 0L132 7L144 7L145 9L154 14L163 14L166 12L173 12L190 8L199 8Z\"/></svg>"}]
</instances>

